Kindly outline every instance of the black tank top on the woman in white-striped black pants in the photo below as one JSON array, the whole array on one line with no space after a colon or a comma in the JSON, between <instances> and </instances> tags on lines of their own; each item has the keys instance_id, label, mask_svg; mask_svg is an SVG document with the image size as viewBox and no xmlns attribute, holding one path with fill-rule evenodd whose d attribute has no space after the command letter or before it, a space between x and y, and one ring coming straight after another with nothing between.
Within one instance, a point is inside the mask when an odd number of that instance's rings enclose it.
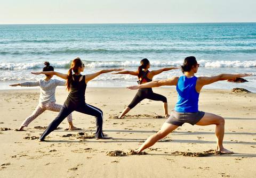
<instances>
[{"instance_id":1,"label":"black tank top on the woman in white-striped black pants","mask_svg":"<svg viewBox=\"0 0 256 178\"><path fill-rule=\"evenodd\" d=\"M72 76L74 80L72 79L70 82L70 92L67 99L72 101L73 103L85 103L85 75L83 75L81 81L79 81L82 76L81 74L73 74Z\"/></svg>"}]
</instances>

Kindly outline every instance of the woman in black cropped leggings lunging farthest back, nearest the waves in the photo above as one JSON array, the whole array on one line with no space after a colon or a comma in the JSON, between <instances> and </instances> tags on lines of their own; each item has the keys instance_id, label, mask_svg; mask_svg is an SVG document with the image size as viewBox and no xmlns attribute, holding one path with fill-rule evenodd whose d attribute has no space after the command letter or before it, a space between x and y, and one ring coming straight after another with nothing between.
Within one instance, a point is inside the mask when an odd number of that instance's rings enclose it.
<instances>
[{"instance_id":1,"label":"woman in black cropped leggings lunging farthest back, nearest the waves","mask_svg":"<svg viewBox=\"0 0 256 178\"><path fill-rule=\"evenodd\" d=\"M136 75L139 78L138 83L147 83L152 81L153 77L159 73L162 73L164 71L169 71L172 69L179 69L179 67L168 67L163 68L155 71L149 71L150 63L147 58L144 58L140 61L140 66L138 67L138 71L122 71L117 72L113 74L130 74L130 75ZM144 70L142 70L144 69ZM119 115L118 118L122 118L126 113L128 113L134 106L136 106L140 101L143 99L151 99L155 101L162 101L163 102L163 108L164 108L164 114L165 117L169 116L168 114L168 108L167 108L167 99L163 95L155 94L152 90L152 88L143 88L139 89L135 97L133 98L132 102L124 109L124 111Z\"/></svg>"}]
</instances>

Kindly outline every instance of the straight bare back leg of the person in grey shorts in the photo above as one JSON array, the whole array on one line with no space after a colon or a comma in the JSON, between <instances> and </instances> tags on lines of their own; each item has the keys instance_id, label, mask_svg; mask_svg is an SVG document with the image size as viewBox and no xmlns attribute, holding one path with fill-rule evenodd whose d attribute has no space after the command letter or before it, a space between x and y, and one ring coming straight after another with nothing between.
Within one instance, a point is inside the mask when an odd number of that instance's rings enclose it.
<instances>
[{"instance_id":1,"label":"straight bare back leg of the person in grey shorts","mask_svg":"<svg viewBox=\"0 0 256 178\"><path fill-rule=\"evenodd\" d=\"M173 125L169 123L164 123L162 125L162 128L155 133L154 135L151 135L141 146L139 149L135 150L136 152L141 152L144 149L153 146L158 140L164 138L167 134L171 133L173 130L177 129L178 125Z\"/></svg>"}]
</instances>

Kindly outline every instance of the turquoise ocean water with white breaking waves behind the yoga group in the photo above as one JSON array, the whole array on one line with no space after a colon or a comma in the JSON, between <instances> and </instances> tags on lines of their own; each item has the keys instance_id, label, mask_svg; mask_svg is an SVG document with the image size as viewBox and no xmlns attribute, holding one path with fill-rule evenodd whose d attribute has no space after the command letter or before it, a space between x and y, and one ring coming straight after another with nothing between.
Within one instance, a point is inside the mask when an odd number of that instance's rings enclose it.
<instances>
[{"instance_id":1,"label":"turquoise ocean water with white breaking waves behind the yoga group","mask_svg":"<svg viewBox=\"0 0 256 178\"><path fill-rule=\"evenodd\" d=\"M0 25L0 88L43 78L30 72L42 70L44 61L66 73L70 61L80 57L87 74L113 67L136 71L143 58L150 70L180 66L187 56L201 64L197 76L254 74L246 83L221 81L206 88L256 92L256 23ZM171 70L154 79L181 74ZM103 74L89 86L126 87L136 81L132 75Z\"/></svg>"}]
</instances>

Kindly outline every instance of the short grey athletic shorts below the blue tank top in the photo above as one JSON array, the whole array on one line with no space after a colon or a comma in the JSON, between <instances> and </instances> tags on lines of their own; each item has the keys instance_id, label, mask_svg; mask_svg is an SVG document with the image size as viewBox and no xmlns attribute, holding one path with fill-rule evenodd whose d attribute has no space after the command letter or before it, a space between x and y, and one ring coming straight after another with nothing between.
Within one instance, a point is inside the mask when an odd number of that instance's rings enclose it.
<instances>
[{"instance_id":1,"label":"short grey athletic shorts below the blue tank top","mask_svg":"<svg viewBox=\"0 0 256 178\"><path fill-rule=\"evenodd\" d=\"M196 113L180 113L177 111L172 111L171 115L167 120L166 123L181 126L184 123L189 123L191 125L195 125L198 121L201 120L204 116L204 112L198 111Z\"/></svg>"}]
</instances>

